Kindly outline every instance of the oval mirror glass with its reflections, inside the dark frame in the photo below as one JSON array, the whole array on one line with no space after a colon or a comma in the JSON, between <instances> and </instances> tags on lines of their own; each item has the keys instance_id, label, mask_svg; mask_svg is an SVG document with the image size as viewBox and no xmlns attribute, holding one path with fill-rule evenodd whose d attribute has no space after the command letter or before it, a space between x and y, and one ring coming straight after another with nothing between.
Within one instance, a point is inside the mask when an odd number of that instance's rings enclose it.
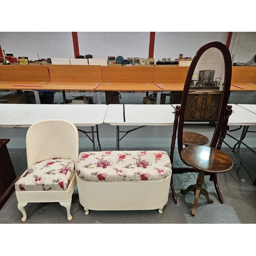
<instances>
[{"instance_id":1,"label":"oval mirror glass with its reflections, inside the dark frame","mask_svg":"<svg viewBox=\"0 0 256 256\"><path fill-rule=\"evenodd\" d=\"M222 52L217 48L209 48L201 55L190 82L185 106L183 145L211 142L220 112L224 76ZM191 133L195 130L206 136Z\"/></svg>"}]
</instances>

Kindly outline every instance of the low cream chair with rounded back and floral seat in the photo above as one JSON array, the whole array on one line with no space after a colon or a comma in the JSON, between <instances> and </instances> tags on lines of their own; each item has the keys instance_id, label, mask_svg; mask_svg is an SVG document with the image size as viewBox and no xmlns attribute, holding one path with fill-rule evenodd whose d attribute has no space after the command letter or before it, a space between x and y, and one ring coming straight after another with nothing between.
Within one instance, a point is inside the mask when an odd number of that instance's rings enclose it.
<instances>
[{"instance_id":1,"label":"low cream chair with rounded back and floral seat","mask_svg":"<svg viewBox=\"0 0 256 256\"><path fill-rule=\"evenodd\" d=\"M66 120L44 120L31 125L26 136L28 169L15 183L18 209L27 220L27 203L59 202L68 220L76 185L78 131Z\"/></svg>"}]
</instances>

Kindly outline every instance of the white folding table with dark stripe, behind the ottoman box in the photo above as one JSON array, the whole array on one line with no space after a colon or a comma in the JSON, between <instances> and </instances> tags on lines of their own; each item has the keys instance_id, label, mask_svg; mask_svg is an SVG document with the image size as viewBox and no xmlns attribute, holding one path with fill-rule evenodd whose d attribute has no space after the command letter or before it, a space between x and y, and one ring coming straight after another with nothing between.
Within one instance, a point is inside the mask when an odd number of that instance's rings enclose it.
<instances>
[{"instance_id":1,"label":"white folding table with dark stripe, behind the ottoman box","mask_svg":"<svg viewBox=\"0 0 256 256\"><path fill-rule=\"evenodd\" d=\"M128 133L146 125L173 125L174 107L169 104L109 104L104 123L117 126L116 150L120 140ZM129 131L120 131L119 126L139 126ZM125 133L120 138L120 133Z\"/></svg>"}]
</instances>

